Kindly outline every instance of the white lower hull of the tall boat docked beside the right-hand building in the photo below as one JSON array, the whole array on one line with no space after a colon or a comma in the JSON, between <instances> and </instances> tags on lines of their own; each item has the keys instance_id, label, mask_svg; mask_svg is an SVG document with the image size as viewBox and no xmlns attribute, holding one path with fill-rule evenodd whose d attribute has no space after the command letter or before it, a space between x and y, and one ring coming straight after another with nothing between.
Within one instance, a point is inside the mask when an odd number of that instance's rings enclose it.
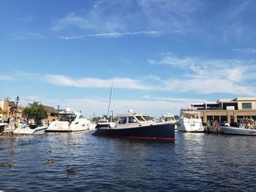
<instances>
[{"instance_id":1,"label":"white lower hull of the tall boat docked beside the right-hand building","mask_svg":"<svg viewBox=\"0 0 256 192\"><path fill-rule=\"evenodd\" d=\"M203 124L200 119L179 120L178 131L184 132L203 132Z\"/></svg>"}]
</instances>

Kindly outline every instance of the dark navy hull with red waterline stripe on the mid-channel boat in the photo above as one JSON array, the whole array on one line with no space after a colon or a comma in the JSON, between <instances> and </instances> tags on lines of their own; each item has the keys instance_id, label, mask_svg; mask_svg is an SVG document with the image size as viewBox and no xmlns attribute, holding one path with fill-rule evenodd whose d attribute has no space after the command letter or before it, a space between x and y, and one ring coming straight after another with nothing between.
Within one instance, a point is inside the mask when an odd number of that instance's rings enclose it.
<instances>
[{"instance_id":1,"label":"dark navy hull with red waterline stripe on the mid-channel boat","mask_svg":"<svg viewBox=\"0 0 256 192\"><path fill-rule=\"evenodd\" d=\"M97 128L94 135L132 139L175 139L174 125L170 123L157 123L132 128Z\"/></svg>"}]
</instances>

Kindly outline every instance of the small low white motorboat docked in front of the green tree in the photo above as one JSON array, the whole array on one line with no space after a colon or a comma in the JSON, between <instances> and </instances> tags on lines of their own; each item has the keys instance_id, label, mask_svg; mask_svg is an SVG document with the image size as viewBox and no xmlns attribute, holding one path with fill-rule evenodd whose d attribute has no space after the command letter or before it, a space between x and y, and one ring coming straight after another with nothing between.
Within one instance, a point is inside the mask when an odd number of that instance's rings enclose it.
<instances>
[{"instance_id":1,"label":"small low white motorboat docked in front of the green tree","mask_svg":"<svg viewBox=\"0 0 256 192\"><path fill-rule=\"evenodd\" d=\"M24 125L20 128L16 128L13 134L44 134L48 125L37 126L37 125Z\"/></svg>"}]
</instances>

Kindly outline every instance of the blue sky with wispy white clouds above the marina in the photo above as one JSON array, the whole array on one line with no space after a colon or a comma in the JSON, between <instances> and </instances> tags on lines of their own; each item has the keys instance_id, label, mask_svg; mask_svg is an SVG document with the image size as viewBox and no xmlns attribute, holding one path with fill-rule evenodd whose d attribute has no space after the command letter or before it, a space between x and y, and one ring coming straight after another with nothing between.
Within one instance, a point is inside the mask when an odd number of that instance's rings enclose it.
<instances>
[{"instance_id":1,"label":"blue sky with wispy white clouds above the marina","mask_svg":"<svg viewBox=\"0 0 256 192\"><path fill-rule=\"evenodd\" d=\"M254 0L0 0L0 99L88 118L256 96Z\"/></svg>"}]
</instances>

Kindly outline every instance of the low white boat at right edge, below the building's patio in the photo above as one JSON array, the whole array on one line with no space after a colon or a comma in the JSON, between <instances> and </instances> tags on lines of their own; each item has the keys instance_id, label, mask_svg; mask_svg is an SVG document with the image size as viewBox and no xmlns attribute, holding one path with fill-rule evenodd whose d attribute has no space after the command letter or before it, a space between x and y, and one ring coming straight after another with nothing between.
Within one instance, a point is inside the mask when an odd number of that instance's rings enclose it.
<instances>
[{"instance_id":1,"label":"low white boat at right edge, below the building's patio","mask_svg":"<svg viewBox=\"0 0 256 192\"><path fill-rule=\"evenodd\" d=\"M253 119L240 120L239 126L221 126L220 131L224 134L240 134L256 136L256 124Z\"/></svg>"}]
</instances>

